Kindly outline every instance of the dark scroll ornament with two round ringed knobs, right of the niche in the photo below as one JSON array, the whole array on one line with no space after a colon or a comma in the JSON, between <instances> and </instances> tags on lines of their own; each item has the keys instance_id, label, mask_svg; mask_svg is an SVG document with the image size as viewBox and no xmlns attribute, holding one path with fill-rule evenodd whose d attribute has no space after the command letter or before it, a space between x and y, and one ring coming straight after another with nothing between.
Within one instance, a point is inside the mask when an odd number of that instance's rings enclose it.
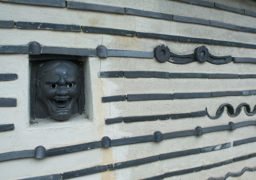
<instances>
[{"instance_id":1,"label":"dark scroll ornament with two round ringed knobs, right of the niche","mask_svg":"<svg viewBox=\"0 0 256 180\"><path fill-rule=\"evenodd\" d=\"M170 62L174 64L187 64L195 61L208 62L211 64L227 64L232 61L231 56L214 56L209 53L205 46L200 46L195 49L194 54L177 55L170 52L170 49L165 45L159 45L154 49L156 59L163 62Z\"/></svg>"}]
</instances>

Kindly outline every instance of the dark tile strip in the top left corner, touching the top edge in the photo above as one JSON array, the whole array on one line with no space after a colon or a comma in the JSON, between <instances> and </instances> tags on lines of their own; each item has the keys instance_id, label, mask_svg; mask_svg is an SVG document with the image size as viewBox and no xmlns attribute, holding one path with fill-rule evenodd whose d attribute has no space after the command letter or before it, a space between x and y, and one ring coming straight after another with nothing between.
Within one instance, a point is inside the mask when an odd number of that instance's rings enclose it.
<instances>
[{"instance_id":1,"label":"dark tile strip in the top left corner, touching the top edge","mask_svg":"<svg viewBox=\"0 0 256 180\"><path fill-rule=\"evenodd\" d=\"M66 7L65 0L0 0L3 2L12 2L12 3L24 3L31 5L43 5L43 6L55 6L55 7Z\"/></svg>"}]
</instances>

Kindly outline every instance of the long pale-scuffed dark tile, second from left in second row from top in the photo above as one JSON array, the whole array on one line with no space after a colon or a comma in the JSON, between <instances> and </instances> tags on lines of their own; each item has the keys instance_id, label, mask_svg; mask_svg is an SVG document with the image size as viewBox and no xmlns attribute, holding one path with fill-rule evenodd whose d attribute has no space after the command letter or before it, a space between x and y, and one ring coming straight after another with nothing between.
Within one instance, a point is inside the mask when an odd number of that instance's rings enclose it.
<instances>
[{"instance_id":1,"label":"long pale-scuffed dark tile, second from left in second row from top","mask_svg":"<svg viewBox=\"0 0 256 180\"><path fill-rule=\"evenodd\" d=\"M44 30L58 30L58 31L81 31L79 25L63 25L53 23L37 23L37 22L15 22L17 28L28 29L44 29Z\"/></svg>"}]
</instances>

